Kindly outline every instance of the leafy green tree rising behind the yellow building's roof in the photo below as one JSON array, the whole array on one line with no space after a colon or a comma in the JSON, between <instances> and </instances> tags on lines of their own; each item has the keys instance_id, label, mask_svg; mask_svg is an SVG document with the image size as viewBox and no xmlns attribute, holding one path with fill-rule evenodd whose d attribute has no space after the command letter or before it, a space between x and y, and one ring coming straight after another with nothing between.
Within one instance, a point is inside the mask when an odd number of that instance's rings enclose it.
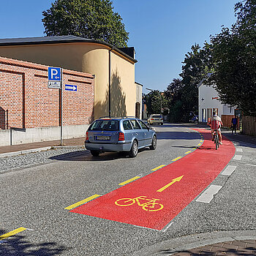
<instances>
[{"instance_id":1,"label":"leafy green tree rising behind the yellow building's roof","mask_svg":"<svg viewBox=\"0 0 256 256\"><path fill-rule=\"evenodd\" d=\"M56 0L42 15L47 36L72 34L127 47L129 33L110 0Z\"/></svg>"}]
</instances>

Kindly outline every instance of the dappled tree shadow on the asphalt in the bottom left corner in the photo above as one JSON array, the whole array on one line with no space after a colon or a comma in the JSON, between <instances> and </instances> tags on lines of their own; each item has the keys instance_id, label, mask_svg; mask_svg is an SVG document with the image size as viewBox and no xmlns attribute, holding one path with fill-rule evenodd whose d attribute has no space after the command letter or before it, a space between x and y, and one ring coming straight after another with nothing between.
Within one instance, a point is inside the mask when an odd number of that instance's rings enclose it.
<instances>
[{"instance_id":1,"label":"dappled tree shadow on the asphalt in the bottom left corner","mask_svg":"<svg viewBox=\"0 0 256 256\"><path fill-rule=\"evenodd\" d=\"M0 234L7 233L0 230ZM10 236L0 241L0 255L3 256L53 256L61 255L61 252L68 251L71 248L58 245L56 243L38 243L32 244L26 241L25 236Z\"/></svg>"}]
</instances>

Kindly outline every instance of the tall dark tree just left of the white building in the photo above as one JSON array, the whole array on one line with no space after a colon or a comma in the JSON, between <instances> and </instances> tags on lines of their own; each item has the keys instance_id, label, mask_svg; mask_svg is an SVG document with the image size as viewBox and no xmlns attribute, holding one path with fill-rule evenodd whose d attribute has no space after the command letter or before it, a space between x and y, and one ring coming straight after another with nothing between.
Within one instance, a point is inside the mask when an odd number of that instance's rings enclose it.
<instances>
[{"instance_id":1,"label":"tall dark tree just left of the white building","mask_svg":"<svg viewBox=\"0 0 256 256\"><path fill-rule=\"evenodd\" d=\"M197 84L212 69L211 45L205 43L203 48L197 44L192 45L183 64L181 78L173 79L165 91L170 108L169 120L172 122L186 122L191 111L197 112Z\"/></svg>"}]
</instances>

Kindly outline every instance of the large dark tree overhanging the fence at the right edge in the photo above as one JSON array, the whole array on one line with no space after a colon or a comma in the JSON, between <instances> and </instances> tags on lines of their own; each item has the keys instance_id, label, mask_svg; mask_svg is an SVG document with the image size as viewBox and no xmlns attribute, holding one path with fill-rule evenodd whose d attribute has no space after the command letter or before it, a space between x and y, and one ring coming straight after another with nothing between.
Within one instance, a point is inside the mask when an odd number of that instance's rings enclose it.
<instances>
[{"instance_id":1,"label":"large dark tree overhanging the fence at the right edge","mask_svg":"<svg viewBox=\"0 0 256 256\"><path fill-rule=\"evenodd\" d=\"M214 72L209 81L223 103L256 116L256 0L238 2L235 13L232 28L211 37Z\"/></svg>"}]
</instances>

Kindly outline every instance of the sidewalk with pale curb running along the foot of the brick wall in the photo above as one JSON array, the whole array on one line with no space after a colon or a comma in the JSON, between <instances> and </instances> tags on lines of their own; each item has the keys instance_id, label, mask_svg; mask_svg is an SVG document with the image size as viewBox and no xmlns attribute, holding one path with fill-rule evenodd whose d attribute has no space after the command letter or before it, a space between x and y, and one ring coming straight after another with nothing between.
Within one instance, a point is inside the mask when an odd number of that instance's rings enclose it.
<instances>
[{"instance_id":1,"label":"sidewalk with pale curb running along the foot of the brick wall","mask_svg":"<svg viewBox=\"0 0 256 256\"><path fill-rule=\"evenodd\" d=\"M63 140L64 146L84 146L85 137L72 138ZM10 157L18 154L28 154L31 152L39 152L49 150L52 147L59 147L60 140L42 141L36 143L26 143L12 146L0 146L0 158Z\"/></svg>"}]
</instances>

